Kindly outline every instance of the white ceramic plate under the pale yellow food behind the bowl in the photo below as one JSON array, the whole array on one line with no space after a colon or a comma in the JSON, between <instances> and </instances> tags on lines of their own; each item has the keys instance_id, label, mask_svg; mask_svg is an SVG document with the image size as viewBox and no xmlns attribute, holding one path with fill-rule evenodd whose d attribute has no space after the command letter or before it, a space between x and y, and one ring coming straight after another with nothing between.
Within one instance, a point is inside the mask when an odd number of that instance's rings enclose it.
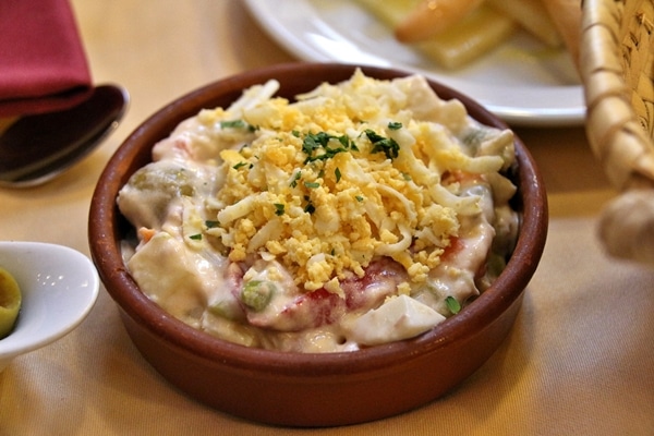
<instances>
[{"instance_id":1,"label":"white ceramic plate under the pale yellow food behind the bowl","mask_svg":"<svg viewBox=\"0 0 654 436\"><path fill-rule=\"evenodd\" d=\"M425 74L484 105L513 125L583 123L583 89L565 51L517 34L493 53L455 72L396 41L353 0L245 0L261 26L306 61L396 68Z\"/></svg>"}]
</instances>

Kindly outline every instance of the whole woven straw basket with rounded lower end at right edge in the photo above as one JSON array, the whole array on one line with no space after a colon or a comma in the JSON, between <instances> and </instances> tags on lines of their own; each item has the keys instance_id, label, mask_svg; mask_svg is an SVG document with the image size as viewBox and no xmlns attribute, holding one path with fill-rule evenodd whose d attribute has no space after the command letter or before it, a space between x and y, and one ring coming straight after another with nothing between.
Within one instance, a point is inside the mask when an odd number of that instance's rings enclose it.
<instances>
[{"instance_id":1,"label":"whole woven straw basket with rounded lower end at right edge","mask_svg":"<svg viewBox=\"0 0 654 436\"><path fill-rule=\"evenodd\" d=\"M654 265L654 0L583 0L580 73L586 133L619 195L600 238L616 257Z\"/></svg>"}]
</instances>

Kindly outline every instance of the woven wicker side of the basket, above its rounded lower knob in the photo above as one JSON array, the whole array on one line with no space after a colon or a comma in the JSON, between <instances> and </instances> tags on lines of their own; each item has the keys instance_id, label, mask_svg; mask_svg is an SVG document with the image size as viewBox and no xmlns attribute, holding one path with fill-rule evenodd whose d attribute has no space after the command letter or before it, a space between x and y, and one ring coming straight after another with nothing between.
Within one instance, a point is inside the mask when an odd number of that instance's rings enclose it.
<instances>
[{"instance_id":1,"label":"woven wicker side of the basket, above its rounded lower knob","mask_svg":"<svg viewBox=\"0 0 654 436\"><path fill-rule=\"evenodd\" d=\"M637 174L654 184L654 161L642 159L654 149L654 4L584 0L583 8L580 64L593 152L616 187Z\"/></svg>"}]
</instances>

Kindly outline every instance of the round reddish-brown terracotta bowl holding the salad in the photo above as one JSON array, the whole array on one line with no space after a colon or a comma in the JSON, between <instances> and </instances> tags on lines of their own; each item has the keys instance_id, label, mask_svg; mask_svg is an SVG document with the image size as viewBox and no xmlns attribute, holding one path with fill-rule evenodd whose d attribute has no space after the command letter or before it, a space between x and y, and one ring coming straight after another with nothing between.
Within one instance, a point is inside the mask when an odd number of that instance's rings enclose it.
<instances>
[{"instance_id":1,"label":"round reddish-brown terracotta bowl holding the salad","mask_svg":"<svg viewBox=\"0 0 654 436\"><path fill-rule=\"evenodd\" d=\"M404 72L362 68L377 78ZM93 259L143 356L172 385L218 410L288 426L331 426L391 416L448 392L498 348L520 308L523 290L541 258L547 232L547 203L541 175L516 140L522 214L520 237L495 284L457 316L412 340L361 351L302 354L251 349L193 329L159 308L138 289L123 265L120 242L130 225L116 197L150 149L202 108L226 107L243 88L277 78L279 95L292 97L323 82L349 78L352 65L283 64L226 78L187 94L152 116L116 152L93 195L89 241ZM458 98L479 121L506 128L470 98L437 83L444 98Z\"/></svg>"}]
</instances>

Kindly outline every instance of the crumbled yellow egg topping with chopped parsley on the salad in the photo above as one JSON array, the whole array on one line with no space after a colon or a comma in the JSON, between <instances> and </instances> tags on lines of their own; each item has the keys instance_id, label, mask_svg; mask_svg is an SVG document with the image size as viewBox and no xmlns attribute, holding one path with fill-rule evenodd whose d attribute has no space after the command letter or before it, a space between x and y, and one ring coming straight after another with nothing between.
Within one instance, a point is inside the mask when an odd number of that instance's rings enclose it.
<instances>
[{"instance_id":1,"label":"crumbled yellow egg topping with chopped parsley on the salad","mask_svg":"<svg viewBox=\"0 0 654 436\"><path fill-rule=\"evenodd\" d=\"M457 210L438 202L440 175L470 170L475 159L393 101L354 102L353 95L370 90L367 77L355 75L351 86L243 111L255 138L220 153L219 226L207 230L230 261L269 253L298 286L334 292L348 271L362 277L378 255L399 262L413 282L425 281L439 264L459 229ZM226 116L206 110L199 119L210 125Z\"/></svg>"}]
</instances>

